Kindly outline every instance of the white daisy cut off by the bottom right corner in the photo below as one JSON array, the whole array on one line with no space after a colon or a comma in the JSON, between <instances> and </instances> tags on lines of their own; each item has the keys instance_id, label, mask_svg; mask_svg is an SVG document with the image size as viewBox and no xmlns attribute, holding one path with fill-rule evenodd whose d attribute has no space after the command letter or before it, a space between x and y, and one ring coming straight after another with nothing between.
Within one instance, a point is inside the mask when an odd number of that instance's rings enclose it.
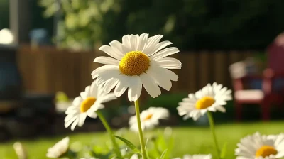
<instances>
[{"instance_id":1,"label":"white daisy cut off by the bottom right corner","mask_svg":"<svg viewBox=\"0 0 284 159\"><path fill-rule=\"evenodd\" d=\"M265 136L254 133L242 138L235 150L236 159L276 159L284 157L284 133Z\"/></svg>"}]
</instances>

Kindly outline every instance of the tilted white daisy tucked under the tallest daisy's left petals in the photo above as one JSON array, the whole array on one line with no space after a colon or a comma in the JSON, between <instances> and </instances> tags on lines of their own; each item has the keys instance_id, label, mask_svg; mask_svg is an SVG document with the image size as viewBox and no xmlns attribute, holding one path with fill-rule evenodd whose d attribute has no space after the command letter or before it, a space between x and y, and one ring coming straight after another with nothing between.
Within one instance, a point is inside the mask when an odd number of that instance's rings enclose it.
<instances>
[{"instance_id":1,"label":"tilted white daisy tucked under the tallest daisy's left petals","mask_svg":"<svg viewBox=\"0 0 284 159\"><path fill-rule=\"evenodd\" d=\"M97 118L95 111L103 109L102 103L116 99L114 93L104 92L102 87L98 87L95 82L91 86L87 86L84 92L80 93L80 97L76 97L67 111L65 117L65 128L71 126L73 131L75 126L82 126L87 116Z\"/></svg>"}]
</instances>

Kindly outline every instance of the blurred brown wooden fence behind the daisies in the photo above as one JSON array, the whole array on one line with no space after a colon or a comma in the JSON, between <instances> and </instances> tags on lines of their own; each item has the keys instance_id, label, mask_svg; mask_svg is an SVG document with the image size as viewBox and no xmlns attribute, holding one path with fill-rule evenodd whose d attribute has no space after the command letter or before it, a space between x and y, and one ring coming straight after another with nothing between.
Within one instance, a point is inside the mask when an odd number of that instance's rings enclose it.
<instances>
[{"instance_id":1,"label":"blurred brown wooden fence behind the daisies","mask_svg":"<svg viewBox=\"0 0 284 159\"><path fill-rule=\"evenodd\" d=\"M253 51L200 51L178 53L174 57L182 62L178 82L173 82L170 92L195 92L207 83L218 82L231 88L229 65L254 54ZM91 72L100 65L93 63L98 53L72 53L54 49L20 49L18 67L23 83L29 92L66 92L76 97L84 87L91 84ZM143 97L148 97L148 94Z\"/></svg>"}]
</instances>

